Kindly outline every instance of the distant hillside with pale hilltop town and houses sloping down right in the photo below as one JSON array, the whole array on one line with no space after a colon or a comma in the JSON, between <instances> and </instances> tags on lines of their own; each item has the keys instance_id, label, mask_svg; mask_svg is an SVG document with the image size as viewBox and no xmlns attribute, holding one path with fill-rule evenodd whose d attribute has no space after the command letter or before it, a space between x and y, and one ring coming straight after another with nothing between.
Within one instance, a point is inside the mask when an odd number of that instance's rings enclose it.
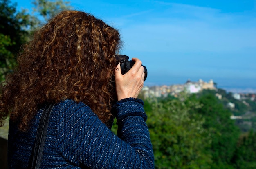
<instances>
[{"instance_id":1,"label":"distant hillside with pale hilltop town and houses sloping down right","mask_svg":"<svg viewBox=\"0 0 256 169\"><path fill-rule=\"evenodd\" d=\"M143 98L167 98L178 97L180 92L187 92L202 96L205 94L215 95L220 103L231 111L233 119L242 132L256 130L256 94L227 92L225 89L217 88L213 81L205 82L201 79L197 82L186 81L184 84L145 86L141 92Z\"/></svg>"}]
</instances>

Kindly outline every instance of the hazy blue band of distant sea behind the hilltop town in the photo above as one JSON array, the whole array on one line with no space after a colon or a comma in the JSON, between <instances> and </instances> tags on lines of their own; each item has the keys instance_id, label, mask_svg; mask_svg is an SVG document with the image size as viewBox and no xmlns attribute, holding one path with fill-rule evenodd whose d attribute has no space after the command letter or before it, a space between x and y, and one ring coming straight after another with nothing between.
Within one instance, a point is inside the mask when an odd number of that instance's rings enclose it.
<instances>
[{"instance_id":1,"label":"hazy blue band of distant sea behind the hilltop town","mask_svg":"<svg viewBox=\"0 0 256 169\"><path fill-rule=\"evenodd\" d=\"M148 75L144 86L162 86L162 85L175 85L184 84L187 80L197 82L202 79L205 82L213 80L217 88L226 90L232 93L256 93L256 79L249 78L209 78L209 77L177 77L177 76L151 76Z\"/></svg>"}]
</instances>

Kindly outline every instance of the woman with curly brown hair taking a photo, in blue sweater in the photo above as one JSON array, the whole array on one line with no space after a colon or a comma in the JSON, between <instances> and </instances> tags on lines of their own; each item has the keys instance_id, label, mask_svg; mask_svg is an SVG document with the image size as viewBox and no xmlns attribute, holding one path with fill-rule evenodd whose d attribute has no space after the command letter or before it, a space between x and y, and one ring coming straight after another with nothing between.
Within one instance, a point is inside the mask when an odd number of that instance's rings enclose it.
<instances>
[{"instance_id":1,"label":"woman with curly brown hair taking a photo, in blue sweater","mask_svg":"<svg viewBox=\"0 0 256 169\"><path fill-rule=\"evenodd\" d=\"M63 11L35 33L0 98L1 121L10 114L9 168L27 168L47 103L55 106L42 168L154 168L147 116L137 99L144 68L133 58L122 75L119 43L117 30L80 11ZM113 117L117 136L110 131Z\"/></svg>"}]
</instances>

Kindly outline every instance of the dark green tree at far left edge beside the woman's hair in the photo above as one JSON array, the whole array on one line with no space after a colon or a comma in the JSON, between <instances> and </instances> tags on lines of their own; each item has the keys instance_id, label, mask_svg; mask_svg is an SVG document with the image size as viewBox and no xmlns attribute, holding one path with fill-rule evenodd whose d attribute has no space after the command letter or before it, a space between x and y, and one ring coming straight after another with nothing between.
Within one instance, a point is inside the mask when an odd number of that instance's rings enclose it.
<instances>
[{"instance_id":1,"label":"dark green tree at far left edge beside the woman's hair","mask_svg":"<svg viewBox=\"0 0 256 169\"><path fill-rule=\"evenodd\" d=\"M0 0L0 81L16 65L16 55L28 35L23 29L29 25L28 18L24 11L16 11L16 4Z\"/></svg>"}]
</instances>

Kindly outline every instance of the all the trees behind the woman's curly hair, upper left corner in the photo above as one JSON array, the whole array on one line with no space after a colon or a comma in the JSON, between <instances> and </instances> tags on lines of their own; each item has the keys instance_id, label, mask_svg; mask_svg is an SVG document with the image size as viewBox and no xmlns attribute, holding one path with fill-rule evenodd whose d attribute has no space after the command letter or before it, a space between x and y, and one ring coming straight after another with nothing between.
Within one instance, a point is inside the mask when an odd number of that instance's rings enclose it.
<instances>
[{"instance_id":1,"label":"all the trees behind the woman's curly hair, upper left corner","mask_svg":"<svg viewBox=\"0 0 256 169\"><path fill-rule=\"evenodd\" d=\"M0 0L0 82L16 66L21 45L28 42L30 35L57 12L71 9L69 3L63 0L34 0L34 15L30 15L27 9L18 12L16 3Z\"/></svg>"}]
</instances>

